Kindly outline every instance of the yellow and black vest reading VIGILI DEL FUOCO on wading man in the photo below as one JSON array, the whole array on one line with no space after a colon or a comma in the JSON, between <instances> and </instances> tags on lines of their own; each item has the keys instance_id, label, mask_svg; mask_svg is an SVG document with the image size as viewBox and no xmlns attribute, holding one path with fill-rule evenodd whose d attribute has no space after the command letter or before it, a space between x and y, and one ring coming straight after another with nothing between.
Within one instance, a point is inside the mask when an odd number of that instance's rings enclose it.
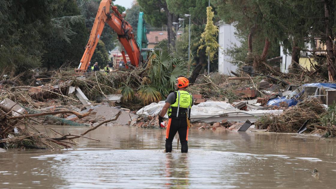
<instances>
[{"instance_id":1,"label":"yellow and black vest reading VIGILI DEL FUOCO on wading man","mask_svg":"<svg viewBox=\"0 0 336 189\"><path fill-rule=\"evenodd\" d=\"M184 90L176 92L176 102L171 104L168 109L168 117L186 118L190 116L190 110L193 105L193 96Z\"/></svg>"}]
</instances>

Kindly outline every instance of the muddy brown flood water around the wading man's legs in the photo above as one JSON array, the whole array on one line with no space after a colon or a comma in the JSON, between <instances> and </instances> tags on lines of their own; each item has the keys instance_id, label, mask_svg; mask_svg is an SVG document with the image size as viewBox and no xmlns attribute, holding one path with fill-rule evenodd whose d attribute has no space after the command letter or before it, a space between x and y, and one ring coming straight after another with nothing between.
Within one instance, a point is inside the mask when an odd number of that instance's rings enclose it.
<instances>
[{"instance_id":1,"label":"muddy brown flood water around the wading man's legs","mask_svg":"<svg viewBox=\"0 0 336 189\"><path fill-rule=\"evenodd\" d=\"M59 128L64 127L64 128ZM81 134L88 127L57 126ZM100 126L69 150L0 153L0 188L335 188L336 140L191 129L163 153L164 129ZM313 174L317 168L319 174Z\"/></svg>"}]
</instances>

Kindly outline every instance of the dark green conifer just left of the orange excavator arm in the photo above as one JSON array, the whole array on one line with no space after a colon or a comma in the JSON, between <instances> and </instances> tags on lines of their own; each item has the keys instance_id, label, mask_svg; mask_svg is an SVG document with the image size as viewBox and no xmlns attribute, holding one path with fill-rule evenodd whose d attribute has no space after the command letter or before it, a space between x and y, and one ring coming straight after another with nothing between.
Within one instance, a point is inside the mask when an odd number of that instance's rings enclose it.
<instances>
[{"instance_id":1,"label":"dark green conifer just left of the orange excavator arm","mask_svg":"<svg viewBox=\"0 0 336 189\"><path fill-rule=\"evenodd\" d=\"M51 19L53 27L42 56L42 65L47 68L58 68L67 61L76 67L84 52L87 35L84 17L80 16L75 0L64 1L61 6L57 17Z\"/></svg>"}]
</instances>

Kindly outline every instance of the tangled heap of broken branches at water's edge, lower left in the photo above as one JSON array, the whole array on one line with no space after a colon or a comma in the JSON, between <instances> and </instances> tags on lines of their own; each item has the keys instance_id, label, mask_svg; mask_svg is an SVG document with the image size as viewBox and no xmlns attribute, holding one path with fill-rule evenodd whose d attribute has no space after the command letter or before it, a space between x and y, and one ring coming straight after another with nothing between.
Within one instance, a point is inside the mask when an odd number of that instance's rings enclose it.
<instances>
[{"instance_id":1,"label":"tangled heap of broken branches at water's edge, lower left","mask_svg":"<svg viewBox=\"0 0 336 189\"><path fill-rule=\"evenodd\" d=\"M27 111L25 109L20 108L15 103L14 106L11 106L11 104L13 104L13 102L9 99L5 99L0 102L0 118L2 120L2 124L0 127L0 144L1 147L4 148L70 148L70 145L76 145L73 139L80 137L88 138L84 135L87 134L89 131L96 129L104 123L108 123L110 121L118 119L119 115L121 114L121 111L119 111L113 119L103 121L97 124L95 127L88 129L81 135L72 135L70 133L67 135L62 135L50 128L48 125L38 121L37 119L35 119L35 117L69 113L76 115L78 118L82 118L89 115L90 112L80 114L75 111L66 110L27 114ZM50 137L46 135L46 133L41 133L38 129L34 127L34 125L40 125L43 126L45 129L50 130L54 134L54 137Z\"/></svg>"}]
</instances>

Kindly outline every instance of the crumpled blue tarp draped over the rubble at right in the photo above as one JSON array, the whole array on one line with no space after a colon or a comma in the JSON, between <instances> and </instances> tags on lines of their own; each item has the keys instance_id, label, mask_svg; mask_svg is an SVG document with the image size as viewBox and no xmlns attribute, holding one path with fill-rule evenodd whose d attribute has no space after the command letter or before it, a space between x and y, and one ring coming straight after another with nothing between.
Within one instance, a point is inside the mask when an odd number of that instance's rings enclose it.
<instances>
[{"instance_id":1,"label":"crumpled blue tarp draped over the rubble at right","mask_svg":"<svg viewBox=\"0 0 336 189\"><path fill-rule=\"evenodd\" d=\"M267 102L267 106L279 106L281 102L286 102L288 106L295 106L298 103L298 98L300 95L304 93L304 87L303 86L313 86L313 87L330 87L336 89L335 83L308 83L300 86L296 90L294 90L292 93L287 95L286 97L279 97L275 99L271 99Z\"/></svg>"}]
</instances>

